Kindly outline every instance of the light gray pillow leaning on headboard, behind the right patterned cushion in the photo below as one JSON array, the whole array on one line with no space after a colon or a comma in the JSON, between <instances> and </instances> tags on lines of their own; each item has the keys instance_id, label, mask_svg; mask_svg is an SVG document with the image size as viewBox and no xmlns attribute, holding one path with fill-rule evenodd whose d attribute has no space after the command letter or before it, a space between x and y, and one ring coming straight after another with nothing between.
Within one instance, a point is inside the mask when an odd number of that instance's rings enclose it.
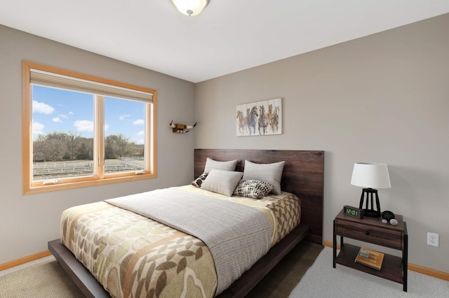
<instances>
[{"instance_id":1,"label":"light gray pillow leaning on headboard, behind the right patterned cushion","mask_svg":"<svg viewBox=\"0 0 449 298\"><path fill-rule=\"evenodd\" d=\"M272 192L281 194L281 178L283 166L286 162L274 162L273 164L255 164L245 160L243 179L261 180L273 185Z\"/></svg>"}]
</instances>

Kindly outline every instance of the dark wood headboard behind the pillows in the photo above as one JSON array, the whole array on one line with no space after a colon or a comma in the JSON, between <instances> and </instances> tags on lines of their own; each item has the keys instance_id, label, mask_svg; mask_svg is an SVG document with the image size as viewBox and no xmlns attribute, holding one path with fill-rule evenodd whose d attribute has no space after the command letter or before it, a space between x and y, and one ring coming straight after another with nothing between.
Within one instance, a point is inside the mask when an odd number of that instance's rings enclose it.
<instances>
[{"instance_id":1,"label":"dark wood headboard behind the pillows","mask_svg":"<svg viewBox=\"0 0 449 298\"><path fill-rule=\"evenodd\" d=\"M195 177L203 173L206 158L237 159L236 171L243 171L245 159L259 164L285 161L281 189L301 200L301 224L309 225L307 239L323 244L324 151L195 149Z\"/></svg>"}]
</instances>

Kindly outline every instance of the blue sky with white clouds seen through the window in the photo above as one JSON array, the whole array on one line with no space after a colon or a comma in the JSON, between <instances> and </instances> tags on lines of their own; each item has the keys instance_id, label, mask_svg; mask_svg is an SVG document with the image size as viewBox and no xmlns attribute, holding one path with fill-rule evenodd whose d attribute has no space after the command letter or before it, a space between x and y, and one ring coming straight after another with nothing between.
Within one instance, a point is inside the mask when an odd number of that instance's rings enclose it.
<instances>
[{"instance_id":1,"label":"blue sky with white clouds seen through the window","mask_svg":"<svg viewBox=\"0 0 449 298\"><path fill-rule=\"evenodd\" d=\"M93 95L33 85L33 139L39 134L74 132L93 136ZM105 98L105 136L123 134L144 139L145 104Z\"/></svg>"}]
</instances>

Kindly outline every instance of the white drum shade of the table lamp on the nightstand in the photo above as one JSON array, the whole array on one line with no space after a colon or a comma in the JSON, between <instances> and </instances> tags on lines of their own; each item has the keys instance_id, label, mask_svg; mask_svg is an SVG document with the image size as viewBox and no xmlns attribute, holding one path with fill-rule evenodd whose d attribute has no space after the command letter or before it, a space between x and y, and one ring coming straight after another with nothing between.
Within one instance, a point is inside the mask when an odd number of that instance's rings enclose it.
<instances>
[{"instance_id":1,"label":"white drum shade of the table lamp on the nightstand","mask_svg":"<svg viewBox=\"0 0 449 298\"><path fill-rule=\"evenodd\" d=\"M356 162L352 171L351 184L366 188L390 188L387 164L366 164Z\"/></svg>"}]
</instances>

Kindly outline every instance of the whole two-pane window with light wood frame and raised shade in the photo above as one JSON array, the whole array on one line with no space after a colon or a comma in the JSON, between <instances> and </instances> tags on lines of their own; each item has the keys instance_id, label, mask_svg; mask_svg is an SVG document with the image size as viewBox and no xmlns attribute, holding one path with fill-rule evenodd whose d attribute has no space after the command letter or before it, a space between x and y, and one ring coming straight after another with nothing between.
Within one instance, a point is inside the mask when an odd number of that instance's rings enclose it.
<instances>
[{"instance_id":1,"label":"whole two-pane window with light wood frame and raised shade","mask_svg":"<svg viewBox=\"0 0 449 298\"><path fill-rule=\"evenodd\" d=\"M156 177L156 91L22 62L23 193Z\"/></svg>"}]
</instances>

